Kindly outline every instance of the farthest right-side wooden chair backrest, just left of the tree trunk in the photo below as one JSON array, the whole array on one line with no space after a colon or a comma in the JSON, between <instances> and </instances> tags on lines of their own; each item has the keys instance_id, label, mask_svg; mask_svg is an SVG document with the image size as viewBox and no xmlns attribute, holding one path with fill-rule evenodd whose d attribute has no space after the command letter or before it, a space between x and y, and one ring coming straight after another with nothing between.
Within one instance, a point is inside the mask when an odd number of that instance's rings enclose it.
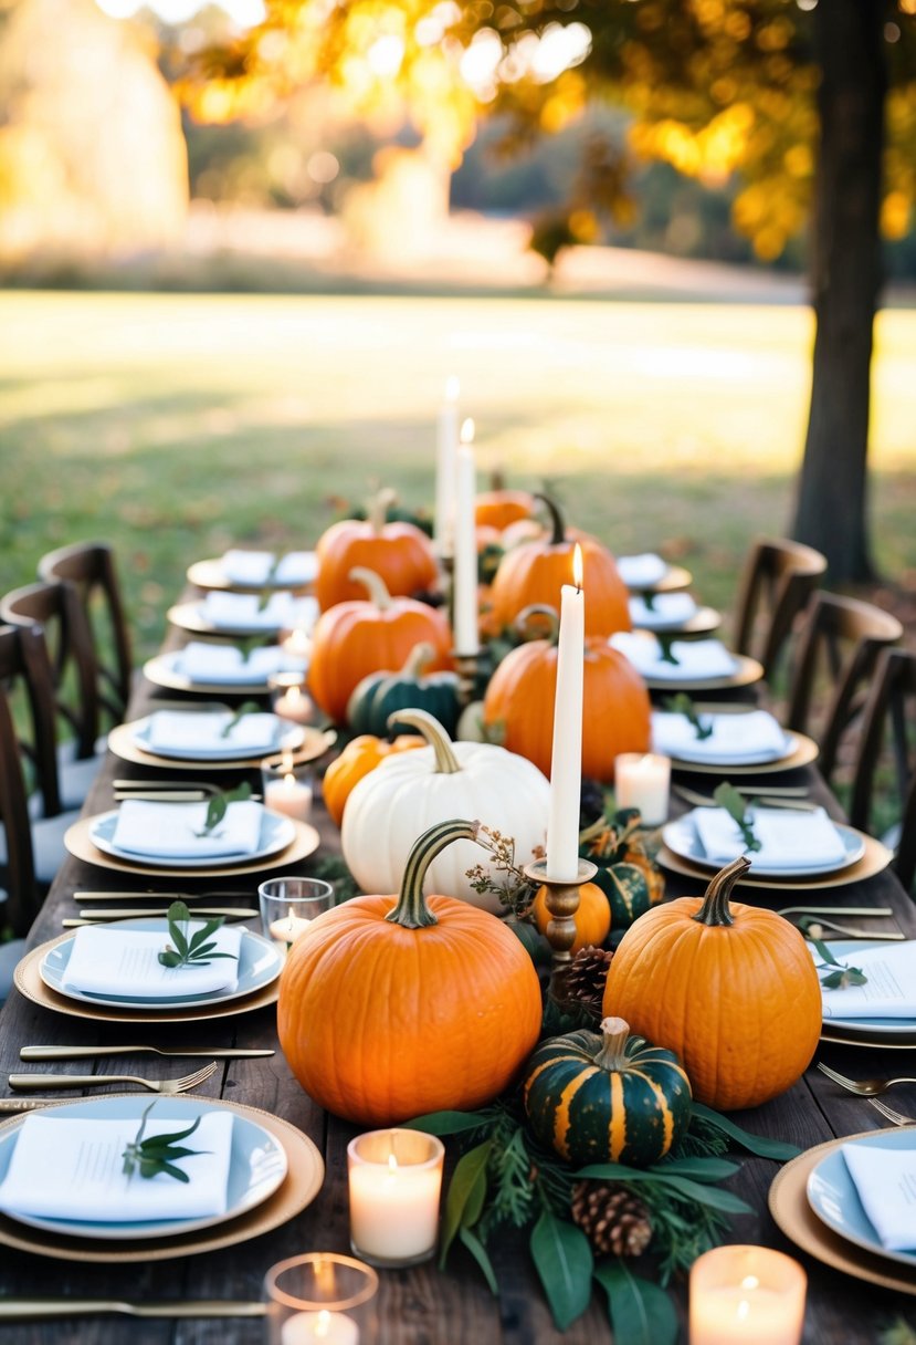
<instances>
[{"instance_id":1,"label":"farthest right-side wooden chair backrest, just left of the tree trunk","mask_svg":"<svg viewBox=\"0 0 916 1345\"><path fill-rule=\"evenodd\" d=\"M813 546L772 537L751 543L735 603L735 650L759 659L768 678L826 569Z\"/></svg>"}]
</instances>

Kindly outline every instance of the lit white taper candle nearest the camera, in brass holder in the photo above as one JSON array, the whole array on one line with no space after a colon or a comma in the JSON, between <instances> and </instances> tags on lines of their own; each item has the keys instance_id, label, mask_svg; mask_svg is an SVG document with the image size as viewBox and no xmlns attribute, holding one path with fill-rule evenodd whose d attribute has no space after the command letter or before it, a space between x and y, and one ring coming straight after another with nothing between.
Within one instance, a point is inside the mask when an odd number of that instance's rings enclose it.
<instances>
[{"instance_id":1,"label":"lit white taper candle nearest the camera, in brass holder","mask_svg":"<svg viewBox=\"0 0 916 1345\"><path fill-rule=\"evenodd\" d=\"M547 822L547 877L575 882L579 873L579 796L582 794L582 686L586 660L586 594L582 549L572 553L571 584L560 590L556 651L551 811Z\"/></svg>"}]
</instances>

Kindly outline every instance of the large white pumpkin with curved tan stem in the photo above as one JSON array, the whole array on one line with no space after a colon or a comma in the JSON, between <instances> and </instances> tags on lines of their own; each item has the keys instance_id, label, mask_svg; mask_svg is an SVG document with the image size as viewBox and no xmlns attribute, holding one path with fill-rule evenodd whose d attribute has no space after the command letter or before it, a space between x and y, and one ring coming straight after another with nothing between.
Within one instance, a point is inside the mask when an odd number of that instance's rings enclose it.
<instances>
[{"instance_id":1,"label":"large white pumpkin with curved tan stem","mask_svg":"<svg viewBox=\"0 0 916 1345\"><path fill-rule=\"evenodd\" d=\"M398 724L419 729L430 746L385 757L347 800L340 842L360 888L400 890L416 838L450 818L477 818L513 837L516 863L531 863L535 849L545 843L551 796L537 767L490 742L451 742L426 710L402 710ZM500 912L494 893L474 892L467 881L467 869L482 862L478 845L457 841L432 861L424 888Z\"/></svg>"}]
</instances>

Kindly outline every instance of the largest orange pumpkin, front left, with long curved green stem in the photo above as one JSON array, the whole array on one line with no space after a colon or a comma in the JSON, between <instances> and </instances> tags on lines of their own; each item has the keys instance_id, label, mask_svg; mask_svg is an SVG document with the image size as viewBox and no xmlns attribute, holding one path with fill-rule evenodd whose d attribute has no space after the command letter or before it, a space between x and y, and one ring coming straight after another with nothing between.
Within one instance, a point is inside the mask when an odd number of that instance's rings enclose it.
<instances>
[{"instance_id":1,"label":"largest orange pumpkin, front left, with long curved green stem","mask_svg":"<svg viewBox=\"0 0 916 1345\"><path fill-rule=\"evenodd\" d=\"M477 830L431 827L400 896L345 901L290 948L279 1044L305 1091L337 1116L390 1126L473 1110L502 1092L537 1041L541 994L521 942L466 901L423 897L428 863Z\"/></svg>"}]
</instances>

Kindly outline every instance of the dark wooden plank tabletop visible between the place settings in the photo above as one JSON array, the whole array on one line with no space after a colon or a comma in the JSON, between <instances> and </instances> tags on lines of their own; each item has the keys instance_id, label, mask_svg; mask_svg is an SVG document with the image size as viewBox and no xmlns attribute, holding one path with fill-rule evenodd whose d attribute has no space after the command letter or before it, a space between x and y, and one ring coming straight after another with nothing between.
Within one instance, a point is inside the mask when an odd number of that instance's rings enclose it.
<instances>
[{"instance_id":1,"label":"dark wooden plank tabletop visible between the place settings","mask_svg":"<svg viewBox=\"0 0 916 1345\"><path fill-rule=\"evenodd\" d=\"M134 697L136 714L144 713L154 695L154 689L141 682ZM173 698L173 697L171 697ZM189 702L192 703L192 702ZM113 806L111 780L116 776L144 772L113 759L105 763L102 773L87 800L87 812L101 812ZM146 772L150 773L150 772ZM701 792L709 792L711 777L684 777ZM794 772L791 776L767 776L770 784L803 783L827 802L835 812L817 772L811 768ZM715 783L715 781L713 781ZM316 800L314 822L322 837L322 851L337 851L337 830L328 819L320 802ZM308 870L308 863L304 865ZM258 877L250 876L238 884L214 884L220 889L238 888L243 896L239 904L257 905ZM62 868L54 888L36 921L30 943L38 944L60 933L60 921L66 915L75 915L74 889L129 890L134 884L122 873L68 859ZM137 882L136 886L167 886L156 882ZM184 885L175 884L175 886ZM195 890L207 890L200 884ZM686 894L697 892L689 880L669 876L668 893ZM758 892L753 901L766 900L768 893ZM782 897L782 900L780 900ZM778 894L774 907L787 904L792 897ZM874 928L885 923L916 936L916 916L897 880L888 872L868 882L818 892L815 900L830 905L890 905L895 916L890 921L874 921ZM220 904L223 898L220 897ZM50 1067L23 1065L19 1048L31 1044L81 1044L98 1045L106 1042L136 1041L136 1026L118 1029L113 1025L94 1025L78 1018L51 1013L26 1001L13 991L0 1017L0 1093L9 1095L7 1075L13 1071L52 1068L81 1073L87 1071L85 1061ZM157 1030L140 1029L140 1038L157 1045L175 1046L275 1046L275 1013L263 1009L234 1018L220 1018L212 1024L191 1026L161 1025ZM916 1075L916 1050L895 1050L881 1053L858 1048L823 1045L818 1059L833 1064L843 1073L853 1076L880 1073ZM99 1059L93 1063L98 1075L137 1071L150 1076L172 1077L183 1072L183 1063L160 1060L154 1056L121 1056ZM3 1247L0 1252L0 1294L30 1297L97 1297L97 1298L236 1298L257 1299L265 1271L286 1256L302 1251L348 1251L348 1208L347 1208L347 1143L356 1132L351 1127L317 1107L291 1077L286 1061L278 1052L265 1060L228 1061L216 1075L199 1089L200 1096L224 1098L231 1102L248 1103L274 1112L298 1126L309 1135L324 1154L326 1178L316 1201L298 1217L273 1233L253 1241L199 1256L180 1260L156 1262L148 1264L93 1266L52 1260ZM74 1093L59 1093L59 1098L77 1098ZM905 1085L895 1091L892 1102L901 1111L916 1116L916 1085ZM788 1141L803 1149L837 1135L848 1135L865 1130L878 1130L884 1122L864 1100L841 1092L834 1084L813 1068L806 1077L782 1098L775 1099L755 1111L737 1114L736 1119L748 1130ZM787 1243L767 1212L767 1192L778 1171L778 1165L766 1159L745 1158L740 1173L732 1180L732 1189L743 1196L755 1209L753 1216L743 1216L733 1221L729 1240L760 1243L779 1247L798 1256L810 1276L809 1306L806 1315L805 1341L843 1341L846 1345L865 1345L877 1338L878 1328L899 1313L908 1313L916 1321L916 1299L892 1294L861 1280L846 1278L818 1262L800 1254ZM533 1270L522 1240L506 1232L492 1248L497 1274L502 1284L500 1299L494 1299L479 1276L479 1272L465 1259L462 1250L453 1252L447 1274L441 1274L432 1264L408 1271L381 1272L379 1307L381 1318L380 1341L383 1345L531 1345L564 1340L571 1345L596 1345L610 1341L607 1310L603 1293L594 1295L592 1306L564 1334L556 1332L547 1310L544 1297L535 1279ZM905 1271L905 1267L896 1267ZM916 1283L916 1276L913 1276ZM681 1313L684 1313L685 1286L677 1287ZM684 1332L684 1338L686 1332ZM232 1345L254 1345L262 1340L262 1323L258 1321L156 1321L128 1322L126 1318L79 1318L70 1322L20 1323L4 1326L3 1340L9 1345L63 1345L79 1341L81 1345L116 1345L125 1340L175 1342L175 1345L203 1345L203 1342L231 1341ZM627 1342L619 1342L627 1345Z\"/></svg>"}]
</instances>

